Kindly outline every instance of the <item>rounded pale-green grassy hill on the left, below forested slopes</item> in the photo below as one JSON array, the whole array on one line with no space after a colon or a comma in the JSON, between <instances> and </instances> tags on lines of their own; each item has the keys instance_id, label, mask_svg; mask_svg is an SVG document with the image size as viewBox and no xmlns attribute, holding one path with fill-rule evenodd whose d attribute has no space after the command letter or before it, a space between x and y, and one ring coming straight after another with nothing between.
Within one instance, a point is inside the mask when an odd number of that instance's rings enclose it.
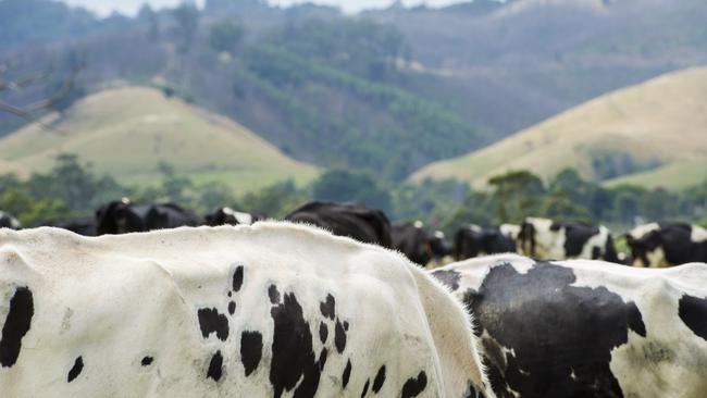
<instances>
[{"instance_id":1,"label":"rounded pale-green grassy hill on the left, below forested slopes","mask_svg":"<svg viewBox=\"0 0 707 398\"><path fill-rule=\"evenodd\" d=\"M103 90L44 122L57 130L30 125L0 140L0 174L44 172L57 154L75 153L128 184L153 181L160 162L197 183L220 181L237 191L317 175L245 127L152 88Z\"/></svg>"}]
</instances>

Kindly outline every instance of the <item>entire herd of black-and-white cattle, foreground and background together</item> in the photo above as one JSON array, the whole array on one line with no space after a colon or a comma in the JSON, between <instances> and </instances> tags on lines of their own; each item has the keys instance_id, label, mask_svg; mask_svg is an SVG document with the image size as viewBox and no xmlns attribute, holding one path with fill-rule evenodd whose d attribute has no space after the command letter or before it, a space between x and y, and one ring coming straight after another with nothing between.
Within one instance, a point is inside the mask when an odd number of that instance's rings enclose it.
<instances>
[{"instance_id":1,"label":"entire herd of black-and-white cattle, foreground and background together","mask_svg":"<svg viewBox=\"0 0 707 398\"><path fill-rule=\"evenodd\" d=\"M264 219L0 213L1 396L707 397L704 228L637 227L622 259L545 219L451 242L349 203Z\"/></svg>"}]
</instances>

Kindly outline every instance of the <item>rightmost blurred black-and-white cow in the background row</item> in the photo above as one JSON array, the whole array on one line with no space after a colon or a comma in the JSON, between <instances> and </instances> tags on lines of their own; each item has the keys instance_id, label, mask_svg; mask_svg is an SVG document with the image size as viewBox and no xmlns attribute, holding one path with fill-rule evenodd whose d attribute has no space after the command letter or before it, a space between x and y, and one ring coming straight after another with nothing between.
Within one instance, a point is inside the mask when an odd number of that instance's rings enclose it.
<instances>
[{"instance_id":1,"label":"rightmost blurred black-and-white cow in the background row","mask_svg":"<svg viewBox=\"0 0 707 398\"><path fill-rule=\"evenodd\" d=\"M684 223L641 225L625 235L634 266L707 262L707 229Z\"/></svg>"}]
</instances>

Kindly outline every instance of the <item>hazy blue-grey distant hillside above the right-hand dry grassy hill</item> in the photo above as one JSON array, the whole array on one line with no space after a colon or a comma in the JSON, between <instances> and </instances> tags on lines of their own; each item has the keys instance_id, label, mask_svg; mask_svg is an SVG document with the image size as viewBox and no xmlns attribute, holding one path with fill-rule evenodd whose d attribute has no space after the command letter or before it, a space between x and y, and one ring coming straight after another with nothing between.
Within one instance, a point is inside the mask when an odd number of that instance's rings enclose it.
<instances>
[{"instance_id":1,"label":"hazy blue-grey distant hillside above the right-hand dry grassy hill","mask_svg":"<svg viewBox=\"0 0 707 398\"><path fill-rule=\"evenodd\" d=\"M367 15L402 32L415 62L434 73L412 91L496 138L707 64L704 0L474 0Z\"/></svg>"}]
</instances>

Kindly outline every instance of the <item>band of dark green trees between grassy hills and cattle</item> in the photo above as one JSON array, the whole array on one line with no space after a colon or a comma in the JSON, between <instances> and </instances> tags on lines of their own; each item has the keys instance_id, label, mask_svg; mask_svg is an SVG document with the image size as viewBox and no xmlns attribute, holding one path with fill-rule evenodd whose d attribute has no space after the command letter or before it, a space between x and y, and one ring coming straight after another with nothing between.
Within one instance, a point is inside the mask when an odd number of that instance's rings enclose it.
<instances>
[{"instance_id":1,"label":"band of dark green trees between grassy hills and cattle","mask_svg":"<svg viewBox=\"0 0 707 398\"><path fill-rule=\"evenodd\" d=\"M421 220L448 233L469 223L519 223L529 215L604 223L624 231L660 220L707 225L707 179L668 191L607 188L583 179L574 170L563 170L548 182L528 171L514 171L491 178L486 189L477 190L455 179L394 184L368 172L335 169L307 186L287 181L237 196L224 184L197 185L169 164L160 165L160 174L154 184L125 186L92 173L75 156L62 154L49 172L26 179L0 176L0 210L24 226L39 226L91 219L95 209L122 197L134 202L173 202L198 214L228 206L272 217L319 199L360 202L384 210L393 221Z\"/></svg>"}]
</instances>

